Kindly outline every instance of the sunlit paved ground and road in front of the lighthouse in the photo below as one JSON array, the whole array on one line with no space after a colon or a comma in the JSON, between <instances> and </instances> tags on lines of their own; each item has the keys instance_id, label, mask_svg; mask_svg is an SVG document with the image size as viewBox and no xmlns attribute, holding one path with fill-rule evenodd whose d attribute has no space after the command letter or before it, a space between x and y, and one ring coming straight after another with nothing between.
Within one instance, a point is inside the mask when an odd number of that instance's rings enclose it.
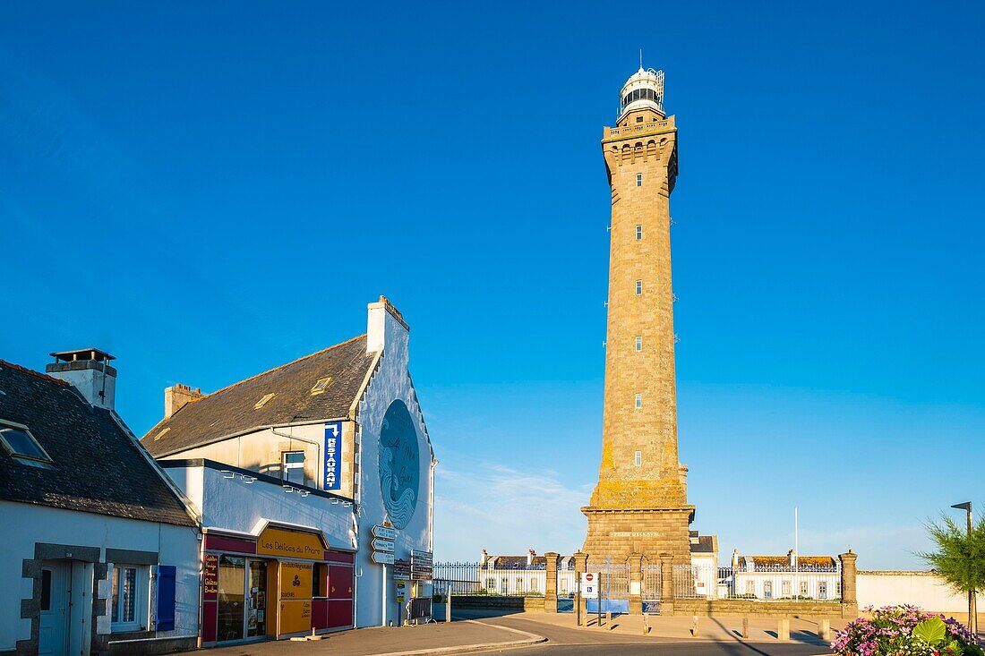
<instances>
[{"instance_id":1,"label":"sunlit paved ground and road in front of the lighthouse","mask_svg":"<svg viewBox=\"0 0 985 656\"><path fill-rule=\"evenodd\" d=\"M309 642L277 641L240 644L210 650L227 656L450 656L478 652L505 652L511 656L587 656L588 654L722 654L739 656L815 656L830 654L817 636L818 625L791 620L790 641L776 639L775 620L753 620L749 639L739 637L741 618L699 618L697 637L693 620L651 617L643 634L643 618L621 616L611 626L597 625L594 617L578 627L570 614L459 611L453 623L420 626L360 628L330 633ZM843 622L832 622L838 628Z\"/></svg>"}]
</instances>

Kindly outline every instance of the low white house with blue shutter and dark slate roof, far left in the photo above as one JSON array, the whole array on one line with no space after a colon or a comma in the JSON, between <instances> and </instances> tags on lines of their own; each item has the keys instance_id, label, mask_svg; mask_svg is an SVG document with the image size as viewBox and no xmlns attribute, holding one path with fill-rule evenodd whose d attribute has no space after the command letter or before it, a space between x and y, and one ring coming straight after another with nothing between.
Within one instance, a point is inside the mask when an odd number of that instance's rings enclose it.
<instances>
[{"instance_id":1,"label":"low white house with blue shutter and dark slate roof, far left","mask_svg":"<svg viewBox=\"0 0 985 656\"><path fill-rule=\"evenodd\" d=\"M113 411L112 357L52 355L0 361L0 654L192 649L196 517Z\"/></svg>"}]
</instances>

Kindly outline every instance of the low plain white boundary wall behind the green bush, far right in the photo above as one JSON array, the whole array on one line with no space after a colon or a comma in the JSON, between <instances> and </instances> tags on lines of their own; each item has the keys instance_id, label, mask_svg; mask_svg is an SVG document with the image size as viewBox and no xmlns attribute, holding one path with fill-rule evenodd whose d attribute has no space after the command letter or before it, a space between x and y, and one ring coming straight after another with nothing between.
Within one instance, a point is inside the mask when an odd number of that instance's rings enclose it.
<instances>
[{"instance_id":1,"label":"low plain white boundary wall behind the green bush, far right","mask_svg":"<svg viewBox=\"0 0 985 656\"><path fill-rule=\"evenodd\" d=\"M930 571L860 571L856 577L859 609L910 604L937 613L967 613L968 596L954 592ZM978 596L979 608L985 596Z\"/></svg>"}]
</instances>

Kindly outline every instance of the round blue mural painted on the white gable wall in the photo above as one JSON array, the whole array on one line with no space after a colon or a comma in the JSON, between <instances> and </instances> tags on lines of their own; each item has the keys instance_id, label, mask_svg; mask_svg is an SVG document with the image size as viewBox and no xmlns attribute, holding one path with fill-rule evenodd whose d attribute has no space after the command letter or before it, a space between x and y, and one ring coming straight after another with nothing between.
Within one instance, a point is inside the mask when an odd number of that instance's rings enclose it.
<instances>
[{"instance_id":1,"label":"round blue mural painted on the white gable wall","mask_svg":"<svg viewBox=\"0 0 985 656\"><path fill-rule=\"evenodd\" d=\"M421 450L403 401L390 404L379 431L379 488L390 522L402 529L414 516L421 485Z\"/></svg>"}]
</instances>

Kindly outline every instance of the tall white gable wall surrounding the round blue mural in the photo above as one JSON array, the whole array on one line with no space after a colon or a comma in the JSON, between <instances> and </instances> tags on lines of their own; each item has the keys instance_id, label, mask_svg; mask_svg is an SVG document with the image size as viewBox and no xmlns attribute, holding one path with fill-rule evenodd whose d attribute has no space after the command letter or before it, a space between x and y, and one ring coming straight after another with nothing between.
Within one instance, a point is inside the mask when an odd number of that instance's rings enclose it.
<instances>
[{"instance_id":1,"label":"tall white gable wall surrounding the round blue mural","mask_svg":"<svg viewBox=\"0 0 985 656\"><path fill-rule=\"evenodd\" d=\"M378 303L370 304L368 342L370 346L378 345L381 341L380 331L383 331L384 355L369 383L356 418L360 426L361 441L360 553L356 563L358 626L379 625L382 619L380 606L383 567L371 561L369 543L372 540L372 526L381 524L387 518L380 483L379 440L384 415L390 404L397 399L407 405L417 431L420 486L414 514L407 525L397 531L396 558L410 558L411 550L430 551L431 547L430 463L433 455L408 371L409 336L400 322L382 307L375 307L376 305ZM398 607L393 603L396 586L391 575L387 579L387 595L391 602L387 607L387 616L396 624ZM430 585L425 586L422 594L430 594Z\"/></svg>"}]
</instances>

